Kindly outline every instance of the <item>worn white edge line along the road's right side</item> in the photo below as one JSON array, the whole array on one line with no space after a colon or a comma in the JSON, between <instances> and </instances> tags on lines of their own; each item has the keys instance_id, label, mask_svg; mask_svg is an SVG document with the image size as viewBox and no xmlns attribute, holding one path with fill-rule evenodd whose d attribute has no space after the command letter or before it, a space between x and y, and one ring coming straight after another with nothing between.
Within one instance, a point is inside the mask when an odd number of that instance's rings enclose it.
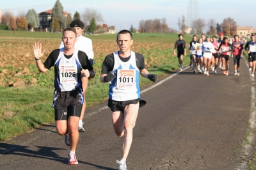
<instances>
[{"instance_id":1,"label":"worn white edge line along the road's right side","mask_svg":"<svg viewBox=\"0 0 256 170\"><path fill-rule=\"evenodd\" d=\"M247 68L249 68L249 65L247 63L247 61L245 61L245 64L247 66ZM249 72L250 75L250 72ZM250 79L252 81L252 85L255 84L255 79L250 75ZM247 132L250 132L250 130L253 130L253 132L255 132L256 130L256 111L255 111L255 87L252 86L251 87L251 109L250 109L250 117L249 117L249 123L250 123L250 128L248 128ZM248 164L247 164L247 160L244 159L246 158L248 155L253 155L252 153L252 143L255 141L255 134L253 134L253 132L250 133L250 135L247 137L248 141L251 144L248 144L245 140L243 142L243 148L241 150L241 154L239 155L238 161L240 162L235 169L237 170L246 170L248 169Z\"/></svg>"}]
</instances>

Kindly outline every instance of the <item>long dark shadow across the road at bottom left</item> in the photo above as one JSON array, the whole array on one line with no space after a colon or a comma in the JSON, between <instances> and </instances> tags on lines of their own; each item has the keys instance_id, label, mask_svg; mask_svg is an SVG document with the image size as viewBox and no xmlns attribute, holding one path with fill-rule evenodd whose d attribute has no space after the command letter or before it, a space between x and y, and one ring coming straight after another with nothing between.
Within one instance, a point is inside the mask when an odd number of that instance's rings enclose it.
<instances>
[{"instance_id":1,"label":"long dark shadow across the road at bottom left","mask_svg":"<svg viewBox=\"0 0 256 170\"><path fill-rule=\"evenodd\" d=\"M21 146L17 144L0 143L0 157L2 155L19 155L22 157L44 158L67 164L67 157L60 157L54 151L65 150L63 148L52 148L46 146L35 146L38 150L29 150L28 146ZM115 170L110 167L99 166L90 162L84 162L78 159L79 164L87 164L88 166L94 166L98 169ZM50 163L50 162L49 162ZM51 163L52 164L52 163Z\"/></svg>"}]
</instances>

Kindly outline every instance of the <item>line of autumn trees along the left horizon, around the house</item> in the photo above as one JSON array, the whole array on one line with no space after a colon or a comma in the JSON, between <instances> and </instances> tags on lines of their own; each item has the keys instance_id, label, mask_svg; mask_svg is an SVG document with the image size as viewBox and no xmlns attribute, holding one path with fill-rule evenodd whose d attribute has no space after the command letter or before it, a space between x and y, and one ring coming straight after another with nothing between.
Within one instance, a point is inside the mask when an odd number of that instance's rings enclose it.
<instances>
[{"instance_id":1,"label":"line of autumn trees along the left horizon, around the house","mask_svg":"<svg viewBox=\"0 0 256 170\"><path fill-rule=\"evenodd\" d=\"M80 17L80 13L76 12L72 18L70 14L65 16L60 0L57 0L52 8L51 20L49 20L49 29L51 31L61 31L70 26L72 20L80 19L84 22L84 31L95 33L102 31L100 22L104 22L104 19L100 12L93 8L85 8ZM31 31L34 28L40 28L40 19L34 9L29 9L27 13L21 12L18 16L14 16L12 12L4 12L2 16L2 24L6 25L6 29ZM115 26L110 26L109 29L114 29Z\"/></svg>"}]
</instances>

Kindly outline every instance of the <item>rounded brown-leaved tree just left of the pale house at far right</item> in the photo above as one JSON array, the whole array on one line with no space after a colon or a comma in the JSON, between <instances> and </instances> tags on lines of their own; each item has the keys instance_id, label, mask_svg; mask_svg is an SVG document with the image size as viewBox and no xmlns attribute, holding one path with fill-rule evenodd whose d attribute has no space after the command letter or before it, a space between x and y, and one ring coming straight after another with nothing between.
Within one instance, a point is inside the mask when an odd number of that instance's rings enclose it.
<instances>
[{"instance_id":1,"label":"rounded brown-leaved tree just left of the pale house at far right","mask_svg":"<svg viewBox=\"0 0 256 170\"><path fill-rule=\"evenodd\" d=\"M237 28L237 25L236 25L236 21L230 17L228 17L227 19L223 19L223 22L222 22L222 30L224 32L224 35L236 35L236 28Z\"/></svg>"}]
</instances>

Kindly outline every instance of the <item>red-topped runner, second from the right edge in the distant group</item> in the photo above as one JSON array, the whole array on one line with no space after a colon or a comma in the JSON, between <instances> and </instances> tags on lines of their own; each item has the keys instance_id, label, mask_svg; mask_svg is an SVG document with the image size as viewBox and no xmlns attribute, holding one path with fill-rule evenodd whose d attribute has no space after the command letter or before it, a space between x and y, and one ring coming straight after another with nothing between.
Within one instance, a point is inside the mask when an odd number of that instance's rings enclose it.
<instances>
[{"instance_id":1,"label":"red-topped runner, second from the right edge in the distant group","mask_svg":"<svg viewBox=\"0 0 256 170\"><path fill-rule=\"evenodd\" d=\"M242 51L244 49L243 42L239 41L239 36L234 36L235 41L232 43L233 47L233 59L234 59L234 69L235 73L234 75L239 75L239 66L240 66L240 58Z\"/></svg>"}]
</instances>

